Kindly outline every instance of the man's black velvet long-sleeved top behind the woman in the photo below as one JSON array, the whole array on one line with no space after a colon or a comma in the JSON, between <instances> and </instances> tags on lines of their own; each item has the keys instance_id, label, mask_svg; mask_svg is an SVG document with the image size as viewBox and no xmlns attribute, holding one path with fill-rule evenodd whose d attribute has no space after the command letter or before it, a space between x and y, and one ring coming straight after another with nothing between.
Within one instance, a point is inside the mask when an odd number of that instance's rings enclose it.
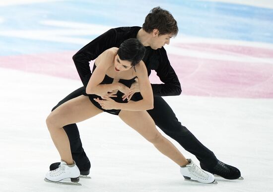
<instances>
[{"instance_id":1,"label":"man's black velvet long-sleeved top behind the woman","mask_svg":"<svg viewBox=\"0 0 273 192\"><path fill-rule=\"evenodd\" d=\"M141 27L118 27L113 28L100 35L74 56L79 77L86 88L91 77L89 62L96 59L103 51L111 47L120 47L121 43L129 38L136 38L137 32ZM178 77L170 65L166 50L162 47L153 50L150 47L145 47L146 53L143 62L146 65L148 75L151 70L155 70L157 76L163 84L151 84L154 96L177 96L181 94L181 86Z\"/></svg>"}]
</instances>

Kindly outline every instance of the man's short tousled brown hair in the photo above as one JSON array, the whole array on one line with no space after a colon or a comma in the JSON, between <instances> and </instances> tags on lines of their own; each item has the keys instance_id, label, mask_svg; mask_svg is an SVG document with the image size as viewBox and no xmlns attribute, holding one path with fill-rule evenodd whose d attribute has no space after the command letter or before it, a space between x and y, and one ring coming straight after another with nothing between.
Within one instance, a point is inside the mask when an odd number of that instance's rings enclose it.
<instances>
[{"instance_id":1,"label":"man's short tousled brown hair","mask_svg":"<svg viewBox=\"0 0 273 192\"><path fill-rule=\"evenodd\" d=\"M175 37L178 33L177 22L173 15L159 6L154 7L145 17L142 28L147 33L158 29L160 35L171 34Z\"/></svg>"}]
</instances>

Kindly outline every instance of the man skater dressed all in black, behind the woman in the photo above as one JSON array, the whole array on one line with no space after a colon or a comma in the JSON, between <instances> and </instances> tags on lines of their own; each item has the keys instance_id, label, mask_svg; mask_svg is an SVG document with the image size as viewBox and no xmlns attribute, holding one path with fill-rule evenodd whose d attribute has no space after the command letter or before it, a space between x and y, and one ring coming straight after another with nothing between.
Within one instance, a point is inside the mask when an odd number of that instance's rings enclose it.
<instances>
[{"instance_id":1,"label":"man skater dressed all in black, behind the woman","mask_svg":"<svg viewBox=\"0 0 273 192\"><path fill-rule=\"evenodd\" d=\"M79 88L61 100L54 108L71 98L82 95L91 77L89 62L94 60L106 49L119 47L120 44L129 38L137 38L146 48L143 62L150 75L151 70L155 70L157 76L163 84L151 84L154 96L154 108L148 110L155 124L164 131L165 134L176 140L184 149L194 154L200 161L200 166L205 171L216 174L225 179L234 180L241 176L240 171L219 161L212 151L207 149L185 126L178 121L173 110L162 96L178 96L181 94L181 86L178 77L170 65L167 54L163 46L170 43L170 38L178 33L177 22L172 14L160 7L153 8L145 17L141 27L119 27L113 28L100 35L74 56L77 72L83 83ZM125 99L139 100L141 95L138 90L137 81L130 88L131 93L124 96ZM111 95L111 93L109 93ZM162 118L164 117L164 118ZM76 162L81 175L88 175L90 162L86 156L80 140L76 124L64 127L70 142L72 158ZM54 163L50 170L58 168L60 163Z\"/></svg>"}]
</instances>

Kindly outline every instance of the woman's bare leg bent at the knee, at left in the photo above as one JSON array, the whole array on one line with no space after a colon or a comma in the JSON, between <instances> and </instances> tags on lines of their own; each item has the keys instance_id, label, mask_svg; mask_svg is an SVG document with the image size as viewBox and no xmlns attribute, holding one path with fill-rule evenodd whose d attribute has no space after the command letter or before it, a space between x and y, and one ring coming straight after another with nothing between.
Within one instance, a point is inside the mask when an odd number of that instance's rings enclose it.
<instances>
[{"instance_id":1,"label":"woman's bare leg bent at the knee, at left","mask_svg":"<svg viewBox=\"0 0 273 192\"><path fill-rule=\"evenodd\" d=\"M103 112L88 96L78 96L61 104L47 117L46 123L51 138L59 151L61 159L68 165L73 164L68 135L63 126L77 123Z\"/></svg>"}]
</instances>

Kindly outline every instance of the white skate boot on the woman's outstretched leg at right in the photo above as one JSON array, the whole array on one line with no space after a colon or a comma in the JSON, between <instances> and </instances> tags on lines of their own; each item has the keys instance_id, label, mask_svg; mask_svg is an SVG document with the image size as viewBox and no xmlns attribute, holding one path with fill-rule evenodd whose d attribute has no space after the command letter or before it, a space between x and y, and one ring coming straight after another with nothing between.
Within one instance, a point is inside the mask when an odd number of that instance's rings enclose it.
<instances>
[{"instance_id":1,"label":"white skate boot on the woman's outstretched leg at right","mask_svg":"<svg viewBox=\"0 0 273 192\"><path fill-rule=\"evenodd\" d=\"M215 181L214 176L198 167L191 159L188 159L189 164L185 167L180 167L180 172L186 180L198 181L200 183L209 184Z\"/></svg>"}]
</instances>

